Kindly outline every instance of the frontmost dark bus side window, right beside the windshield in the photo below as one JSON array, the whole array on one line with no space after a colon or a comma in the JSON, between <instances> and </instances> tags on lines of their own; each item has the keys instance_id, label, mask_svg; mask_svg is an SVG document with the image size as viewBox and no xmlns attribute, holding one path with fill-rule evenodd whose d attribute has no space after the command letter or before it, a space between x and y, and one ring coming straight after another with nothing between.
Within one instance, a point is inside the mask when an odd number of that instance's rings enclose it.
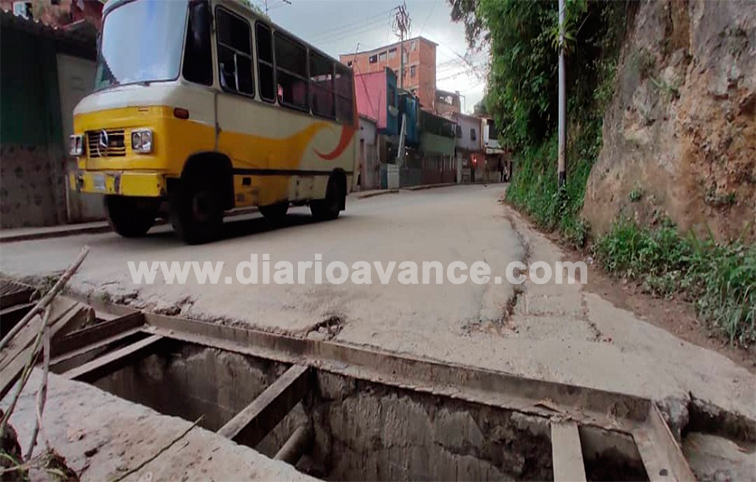
<instances>
[{"instance_id":1,"label":"frontmost dark bus side window, right beside the windshield","mask_svg":"<svg viewBox=\"0 0 756 482\"><path fill-rule=\"evenodd\" d=\"M206 1L189 4L183 75L189 82L213 83L213 51L210 45L211 12Z\"/></svg>"}]
</instances>

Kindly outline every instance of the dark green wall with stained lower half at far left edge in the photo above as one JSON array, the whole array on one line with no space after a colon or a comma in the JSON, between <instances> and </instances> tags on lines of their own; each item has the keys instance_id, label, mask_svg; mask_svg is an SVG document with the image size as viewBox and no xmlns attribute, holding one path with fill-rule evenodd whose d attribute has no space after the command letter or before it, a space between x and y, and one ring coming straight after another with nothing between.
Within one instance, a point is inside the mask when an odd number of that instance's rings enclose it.
<instances>
[{"instance_id":1,"label":"dark green wall with stained lower half at far left edge","mask_svg":"<svg viewBox=\"0 0 756 482\"><path fill-rule=\"evenodd\" d=\"M56 50L52 40L0 31L0 227L66 221Z\"/></svg>"}]
</instances>

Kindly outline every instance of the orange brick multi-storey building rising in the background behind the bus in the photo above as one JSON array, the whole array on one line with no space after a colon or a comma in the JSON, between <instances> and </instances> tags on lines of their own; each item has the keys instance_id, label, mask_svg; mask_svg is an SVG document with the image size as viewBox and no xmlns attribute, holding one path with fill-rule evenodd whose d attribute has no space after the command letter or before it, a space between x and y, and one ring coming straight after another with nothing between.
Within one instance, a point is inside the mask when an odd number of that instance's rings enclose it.
<instances>
[{"instance_id":1,"label":"orange brick multi-storey building rising in the background behind the bus","mask_svg":"<svg viewBox=\"0 0 756 482\"><path fill-rule=\"evenodd\" d=\"M397 85L418 97L421 108L433 111L436 98L436 45L424 37L404 41L403 83L399 79L399 42L367 52L343 54L339 56L339 60L354 69L355 77L381 72L388 67L397 75Z\"/></svg>"}]
</instances>

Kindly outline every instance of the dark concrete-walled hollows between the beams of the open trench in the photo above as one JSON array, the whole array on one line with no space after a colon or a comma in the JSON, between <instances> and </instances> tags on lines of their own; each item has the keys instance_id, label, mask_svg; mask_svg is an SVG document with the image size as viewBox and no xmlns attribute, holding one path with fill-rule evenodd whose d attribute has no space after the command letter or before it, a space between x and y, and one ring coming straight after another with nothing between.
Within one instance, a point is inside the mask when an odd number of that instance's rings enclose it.
<instances>
[{"instance_id":1,"label":"dark concrete-walled hollows between the beams of the open trench","mask_svg":"<svg viewBox=\"0 0 756 482\"><path fill-rule=\"evenodd\" d=\"M166 415L202 416L202 427L218 431L288 369L173 342L93 384ZM553 480L547 418L320 370L311 375L306 395L267 435L234 440L274 457L298 439L283 459L330 480ZM632 437L590 426L579 434L588 480L648 480Z\"/></svg>"}]
</instances>

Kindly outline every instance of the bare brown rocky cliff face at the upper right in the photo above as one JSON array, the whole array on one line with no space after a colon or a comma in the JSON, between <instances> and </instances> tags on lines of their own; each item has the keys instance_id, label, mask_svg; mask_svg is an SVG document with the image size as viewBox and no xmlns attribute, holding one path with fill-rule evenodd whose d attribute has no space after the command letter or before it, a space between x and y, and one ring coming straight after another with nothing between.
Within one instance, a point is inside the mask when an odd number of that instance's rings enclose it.
<instances>
[{"instance_id":1,"label":"bare brown rocky cliff face at the upper right","mask_svg":"<svg viewBox=\"0 0 756 482\"><path fill-rule=\"evenodd\" d=\"M593 232L669 217L756 240L756 3L644 1L615 85L583 208Z\"/></svg>"}]
</instances>

